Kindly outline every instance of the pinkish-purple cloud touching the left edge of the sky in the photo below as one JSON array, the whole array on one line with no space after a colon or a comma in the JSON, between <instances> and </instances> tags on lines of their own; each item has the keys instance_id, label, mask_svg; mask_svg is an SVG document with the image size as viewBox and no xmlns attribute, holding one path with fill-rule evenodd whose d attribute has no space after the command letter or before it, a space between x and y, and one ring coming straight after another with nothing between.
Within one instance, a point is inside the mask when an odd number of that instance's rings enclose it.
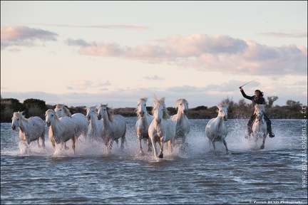
<instances>
[{"instance_id":1,"label":"pinkish-purple cloud touching the left edge of the sky","mask_svg":"<svg viewBox=\"0 0 308 205\"><path fill-rule=\"evenodd\" d=\"M9 46L37 46L36 41L56 41L56 36L58 34L40 28L1 26L1 50Z\"/></svg>"}]
</instances>

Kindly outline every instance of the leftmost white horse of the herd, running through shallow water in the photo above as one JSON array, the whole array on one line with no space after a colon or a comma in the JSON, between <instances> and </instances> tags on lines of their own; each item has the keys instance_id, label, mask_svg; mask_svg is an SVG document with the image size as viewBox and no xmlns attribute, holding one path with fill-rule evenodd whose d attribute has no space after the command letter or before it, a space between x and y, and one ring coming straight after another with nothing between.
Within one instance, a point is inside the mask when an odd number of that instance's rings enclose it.
<instances>
[{"instance_id":1,"label":"leftmost white horse of the herd, running through shallow water","mask_svg":"<svg viewBox=\"0 0 308 205\"><path fill-rule=\"evenodd\" d=\"M34 116L26 119L23 112L14 112L11 129L16 130L16 127L19 127L19 139L27 142L28 147L30 142L35 140L37 140L40 147L39 139L41 138L42 146L45 148L45 122L43 122L41 117Z\"/></svg>"}]
</instances>

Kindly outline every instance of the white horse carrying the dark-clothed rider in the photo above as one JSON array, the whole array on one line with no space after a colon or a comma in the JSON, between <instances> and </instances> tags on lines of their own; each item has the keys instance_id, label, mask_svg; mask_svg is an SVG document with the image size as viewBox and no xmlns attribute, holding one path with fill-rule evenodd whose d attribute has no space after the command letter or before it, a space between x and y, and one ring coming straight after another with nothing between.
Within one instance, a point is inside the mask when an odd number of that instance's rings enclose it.
<instances>
[{"instance_id":1,"label":"white horse carrying the dark-clothed rider","mask_svg":"<svg viewBox=\"0 0 308 205\"><path fill-rule=\"evenodd\" d=\"M255 138L255 142L259 138L262 138L262 144L260 149L265 147L265 138L267 136L267 124L264 119L265 105L255 105L255 122L252 124L252 137Z\"/></svg>"}]
</instances>

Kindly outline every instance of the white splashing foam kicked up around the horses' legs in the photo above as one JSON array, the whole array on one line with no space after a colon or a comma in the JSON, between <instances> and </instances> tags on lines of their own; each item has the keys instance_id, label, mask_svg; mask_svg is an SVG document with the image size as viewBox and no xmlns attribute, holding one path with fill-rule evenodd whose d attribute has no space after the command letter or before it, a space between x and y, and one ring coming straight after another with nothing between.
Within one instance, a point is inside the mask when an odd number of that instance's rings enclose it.
<instances>
[{"instance_id":1,"label":"white splashing foam kicked up around the horses' legs","mask_svg":"<svg viewBox=\"0 0 308 205\"><path fill-rule=\"evenodd\" d=\"M131 123L131 122L130 122ZM195 127L194 127L195 126ZM265 140L265 149L260 150L260 144L262 139L259 140L257 146L255 141L251 139L245 139L246 126L243 126L242 120L232 120L232 123L228 125L229 132L226 137L227 147L229 153L225 152L225 146L222 142L215 142L216 149L215 152L221 152L222 154L232 154L232 152L260 152L267 150L277 150L285 149L289 147L290 142L284 142L282 140L283 135L289 135L290 137L294 136L294 133L289 132L289 130L279 130L273 129L275 137L270 138L267 136ZM48 133L48 132L46 132ZM14 132L14 139L16 143L18 142L18 137L16 138L16 132ZM18 135L18 134L17 134ZM45 137L46 148L38 147L36 142L31 142L28 147L23 142L18 142L19 145L16 146L16 149L3 149L1 152L6 152L9 155L21 155L21 156L47 156L47 157L104 157L104 156L115 156L115 157L130 157L133 159L145 159L145 160L154 160L155 159L153 151L146 152L146 143L143 141L143 151L144 156L139 154L139 145L137 136L133 125L128 125L126 136L125 136L125 147L120 149L120 140L118 144L113 143L112 152L108 154L106 145L103 144L101 139L93 139L90 137L79 137L76 140L76 154L73 154L71 147L71 140L66 142L68 149L61 149L60 144L56 145L56 148L53 148L50 140L48 140L48 135ZM190 157L202 157L207 152L213 152L214 149L210 141L205 136L205 125L193 125L188 138L186 140L188 147L185 148L185 152L181 151L179 147L175 147L173 152L169 152L166 144L164 145L164 159L175 159L176 157L180 158L190 158Z\"/></svg>"}]
</instances>

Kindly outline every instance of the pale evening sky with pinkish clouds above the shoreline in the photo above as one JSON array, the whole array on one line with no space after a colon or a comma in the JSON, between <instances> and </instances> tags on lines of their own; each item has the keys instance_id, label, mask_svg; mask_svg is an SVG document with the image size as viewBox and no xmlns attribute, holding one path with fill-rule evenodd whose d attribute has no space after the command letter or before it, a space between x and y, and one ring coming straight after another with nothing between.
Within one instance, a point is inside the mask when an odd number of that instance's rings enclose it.
<instances>
[{"instance_id":1,"label":"pale evening sky with pinkish clouds above the shoreline","mask_svg":"<svg viewBox=\"0 0 308 205\"><path fill-rule=\"evenodd\" d=\"M1 1L1 98L212 107L245 83L307 105L307 1Z\"/></svg>"}]
</instances>

